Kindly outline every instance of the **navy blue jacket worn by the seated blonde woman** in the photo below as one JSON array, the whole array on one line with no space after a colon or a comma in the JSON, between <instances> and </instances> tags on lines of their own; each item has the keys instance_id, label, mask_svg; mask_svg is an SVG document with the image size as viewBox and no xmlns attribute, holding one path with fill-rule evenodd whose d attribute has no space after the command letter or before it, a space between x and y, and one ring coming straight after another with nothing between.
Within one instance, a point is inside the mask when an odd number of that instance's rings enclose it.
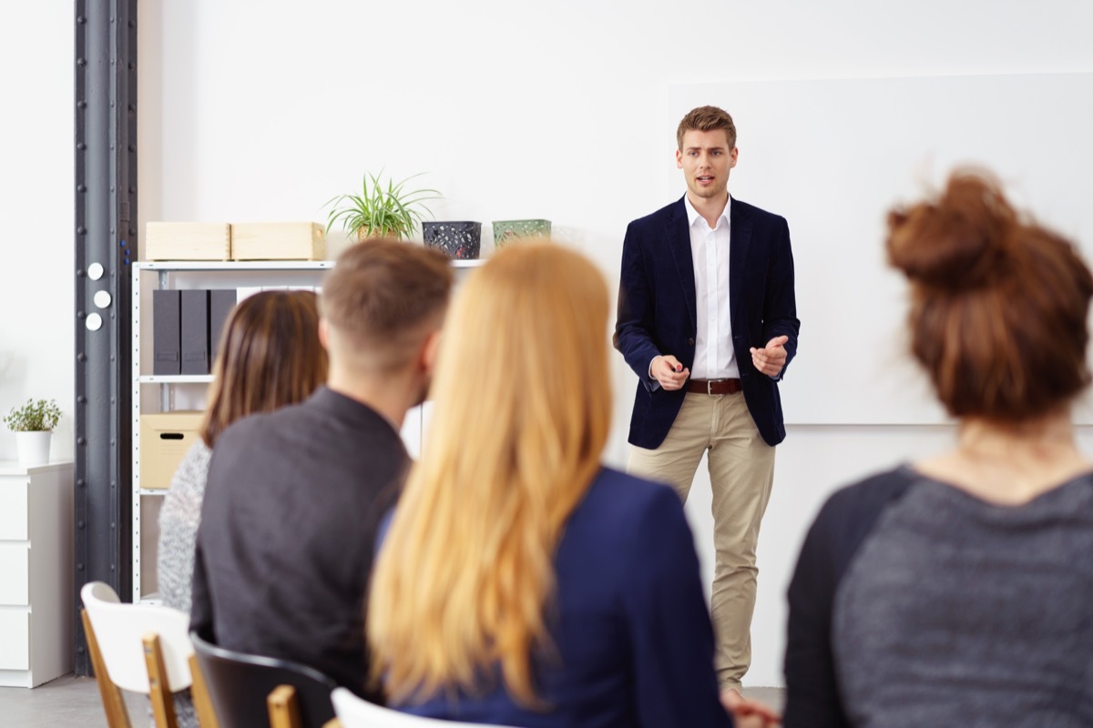
<instances>
[{"instance_id":1,"label":"navy blue jacket worn by the seated blonde woman","mask_svg":"<svg viewBox=\"0 0 1093 728\"><path fill-rule=\"evenodd\" d=\"M714 629L683 504L670 488L603 468L554 557L551 647L534 657L545 709L498 671L474 694L397 706L433 718L528 728L731 728L714 675Z\"/></svg>"}]
</instances>

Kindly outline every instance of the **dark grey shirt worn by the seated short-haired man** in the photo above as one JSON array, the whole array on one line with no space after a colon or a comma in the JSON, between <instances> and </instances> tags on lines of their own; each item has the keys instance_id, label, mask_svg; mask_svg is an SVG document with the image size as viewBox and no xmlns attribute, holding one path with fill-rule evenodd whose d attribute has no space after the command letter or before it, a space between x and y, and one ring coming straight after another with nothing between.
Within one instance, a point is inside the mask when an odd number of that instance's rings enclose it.
<instances>
[{"instance_id":1,"label":"dark grey shirt worn by the seated short-haired man","mask_svg":"<svg viewBox=\"0 0 1093 728\"><path fill-rule=\"evenodd\" d=\"M364 598L408 465L387 419L327 387L227 428L201 508L191 629L378 700L365 691Z\"/></svg>"}]
</instances>

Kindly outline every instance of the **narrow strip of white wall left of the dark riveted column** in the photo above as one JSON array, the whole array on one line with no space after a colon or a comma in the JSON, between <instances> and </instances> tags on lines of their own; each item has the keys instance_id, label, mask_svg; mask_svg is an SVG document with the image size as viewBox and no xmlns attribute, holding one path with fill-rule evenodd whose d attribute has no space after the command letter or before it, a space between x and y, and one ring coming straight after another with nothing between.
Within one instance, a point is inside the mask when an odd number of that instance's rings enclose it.
<instances>
[{"instance_id":1,"label":"narrow strip of white wall left of the dark riveted column","mask_svg":"<svg viewBox=\"0 0 1093 728\"><path fill-rule=\"evenodd\" d=\"M0 24L0 415L28 398L63 413L56 460L72 456L73 141L72 3L21 2ZM0 460L15 435L0 425Z\"/></svg>"}]
</instances>

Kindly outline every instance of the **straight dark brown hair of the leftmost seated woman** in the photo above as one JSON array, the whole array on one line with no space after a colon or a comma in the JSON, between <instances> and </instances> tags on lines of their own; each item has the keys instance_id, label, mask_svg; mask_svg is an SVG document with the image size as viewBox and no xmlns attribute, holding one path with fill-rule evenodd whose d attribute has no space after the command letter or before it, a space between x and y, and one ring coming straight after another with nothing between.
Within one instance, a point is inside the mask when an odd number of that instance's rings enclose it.
<instances>
[{"instance_id":1,"label":"straight dark brown hair of the leftmost seated woman","mask_svg":"<svg viewBox=\"0 0 1093 728\"><path fill-rule=\"evenodd\" d=\"M228 425L303 402L327 381L319 310L310 290L263 290L233 309L213 362L201 439L210 447Z\"/></svg>"}]
</instances>

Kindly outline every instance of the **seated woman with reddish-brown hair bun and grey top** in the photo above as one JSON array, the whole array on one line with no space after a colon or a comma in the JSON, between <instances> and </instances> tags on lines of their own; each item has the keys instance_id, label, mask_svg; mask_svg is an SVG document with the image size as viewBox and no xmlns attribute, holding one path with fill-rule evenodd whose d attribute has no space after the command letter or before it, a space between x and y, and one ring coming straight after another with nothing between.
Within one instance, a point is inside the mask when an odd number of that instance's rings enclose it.
<instances>
[{"instance_id":1,"label":"seated woman with reddish-brown hair bun and grey top","mask_svg":"<svg viewBox=\"0 0 1093 728\"><path fill-rule=\"evenodd\" d=\"M789 587L786 728L1093 725L1093 276L984 172L893 211L955 449L836 492Z\"/></svg>"}]
</instances>

